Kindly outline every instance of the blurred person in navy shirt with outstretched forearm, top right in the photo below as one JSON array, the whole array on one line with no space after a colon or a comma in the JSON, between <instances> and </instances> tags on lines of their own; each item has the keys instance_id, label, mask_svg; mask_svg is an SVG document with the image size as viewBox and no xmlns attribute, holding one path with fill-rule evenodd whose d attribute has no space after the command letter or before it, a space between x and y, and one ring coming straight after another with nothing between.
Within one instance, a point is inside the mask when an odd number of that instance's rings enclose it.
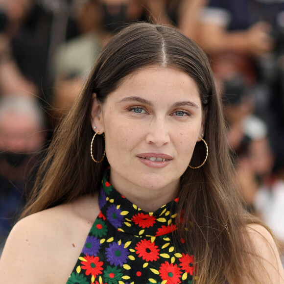
<instances>
[{"instance_id":1,"label":"blurred person in navy shirt with outstretched forearm, top right","mask_svg":"<svg viewBox=\"0 0 284 284\"><path fill-rule=\"evenodd\" d=\"M273 148L283 156L283 0L210 0L200 14L198 43L213 62L230 54L256 87L255 112L269 126Z\"/></svg>"}]
</instances>

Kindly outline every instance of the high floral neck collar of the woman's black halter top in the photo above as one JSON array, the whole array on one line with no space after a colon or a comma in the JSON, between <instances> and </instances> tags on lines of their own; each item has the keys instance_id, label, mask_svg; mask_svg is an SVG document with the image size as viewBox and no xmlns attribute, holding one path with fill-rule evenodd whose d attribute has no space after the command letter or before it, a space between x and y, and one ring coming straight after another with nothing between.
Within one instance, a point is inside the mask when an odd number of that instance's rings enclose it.
<instances>
[{"instance_id":1,"label":"high floral neck collar of the woman's black halter top","mask_svg":"<svg viewBox=\"0 0 284 284\"><path fill-rule=\"evenodd\" d=\"M99 208L101 214L118 231L140 237L157 237L176 230L178 198L155 212L145 212L114 189L108 179L109 169L102 179Z\"/></svg>"}]
</instances>

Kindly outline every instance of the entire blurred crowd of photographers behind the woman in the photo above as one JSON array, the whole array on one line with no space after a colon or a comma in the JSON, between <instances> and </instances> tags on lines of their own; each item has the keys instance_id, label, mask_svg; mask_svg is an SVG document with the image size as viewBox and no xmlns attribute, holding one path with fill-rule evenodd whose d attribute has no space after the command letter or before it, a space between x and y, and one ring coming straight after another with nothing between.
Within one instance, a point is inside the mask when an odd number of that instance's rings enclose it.
<instances>
[{"instance_id":1,"label":"entire blurred crowd of photographers behind the woman","mask_svg":"<svg viewBox=\"0 0 284 284\"><path fill-rule=\"evenodd\" d=\"M0 252L101 48L136 21L207 52L246 209L284 245L284 0L0 0Z\"/></svg>"}]
</instances>

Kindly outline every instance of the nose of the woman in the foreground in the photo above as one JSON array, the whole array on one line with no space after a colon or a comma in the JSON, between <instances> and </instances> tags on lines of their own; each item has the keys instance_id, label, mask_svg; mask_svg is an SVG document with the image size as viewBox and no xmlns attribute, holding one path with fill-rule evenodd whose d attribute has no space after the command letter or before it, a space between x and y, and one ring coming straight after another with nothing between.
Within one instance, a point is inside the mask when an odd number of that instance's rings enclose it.
<instances>
[{"instance_id":1,"label":"nose of the woman in the foreground","mask_svg":"<svg viewBox=\"0 0 284 284\"><path fill-rule=\"evenodd\" d=\"M165 119L153 119L149 124L146 142L161 147L170 141L169 126Z\"/></svg>"}]
</instances>

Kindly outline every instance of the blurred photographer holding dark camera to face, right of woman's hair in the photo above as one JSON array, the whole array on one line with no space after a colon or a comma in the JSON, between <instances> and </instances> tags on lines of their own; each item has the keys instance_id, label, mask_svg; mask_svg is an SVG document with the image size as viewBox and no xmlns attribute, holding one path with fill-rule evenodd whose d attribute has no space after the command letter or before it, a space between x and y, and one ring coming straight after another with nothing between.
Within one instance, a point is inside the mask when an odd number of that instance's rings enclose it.
<instances>
[{"instance_id":1,"label":"blurred photographer holding dark camera to face, right of woman's hair","mask_svg":"<svg viewBox=\"0 0 284 284\"><path fill-rule=\"evenodd\" d=\"M237 181L247 209L253 212L256 192L266 180L264 176L270 176L274 160L271 150L265 149L265 143L262 143L262 140L268 139L268 127L254 114L253 90L249 88L241 74L237 72L230 74L229 67L230 65L227 66L225 63L222 68L219 66L216 78L224 102L224 114L228 127L227 138L237 169ZM259 144L263 146L263 152L258 156L254 149ZM269 160L268 157L271 159Z\"/></svg>"}]
</instances>

